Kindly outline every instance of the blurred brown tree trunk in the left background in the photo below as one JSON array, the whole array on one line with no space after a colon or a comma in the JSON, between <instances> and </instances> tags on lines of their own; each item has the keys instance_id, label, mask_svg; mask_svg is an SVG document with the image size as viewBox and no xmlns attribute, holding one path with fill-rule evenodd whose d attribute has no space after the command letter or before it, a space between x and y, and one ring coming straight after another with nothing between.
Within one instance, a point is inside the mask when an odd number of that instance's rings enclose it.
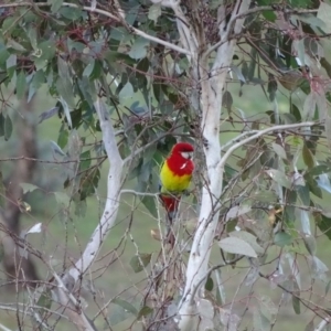
<instances>
[{"instance_id":1,"label":"blurred brown tree trunk in the left background","mask_svg":"<svg viewBox=\"0 0 331 331\"><path fill-rule=\"evenodd\" d=\"M20 114L17 127L19 132L19 157L36 158L35 141L35 124L32 118L33 99L30 103L26 98L21 103ZM20 285L35 286L39 276L31 257L22 257L19 254L19 247L14 237L20 236L20 200L23 197L21 183L31 182L35 170L35 162L26 159L15 161L10 180L7 184L7 204L6 210L1 214L0 223L6 227L7 234L1 234L1 243L3 246L3 267L8 279L15 279Z\"/></svg>"}]
</instances>

